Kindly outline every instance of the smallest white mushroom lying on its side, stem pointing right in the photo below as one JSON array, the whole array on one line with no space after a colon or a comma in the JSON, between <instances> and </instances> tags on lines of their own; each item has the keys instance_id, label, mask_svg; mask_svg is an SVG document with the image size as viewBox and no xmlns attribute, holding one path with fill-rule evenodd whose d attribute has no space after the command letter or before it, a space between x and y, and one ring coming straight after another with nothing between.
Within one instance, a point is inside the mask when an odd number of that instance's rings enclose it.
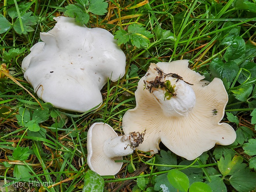
<instances>
[{"instance_id":1,"label":"smallest white mushroom lying on its side, stem pointing right","mask_svg":"<svg viewBox=\"0 0 256 192\"><path fill-rule=\"evenodd\" d=\"M118 136L106 123L93 123L87 133L87 164L99 175L116 175L121 167L122 156L132 154L143 141L144 134L129 133Z\"/></svg>"}]
</instances>

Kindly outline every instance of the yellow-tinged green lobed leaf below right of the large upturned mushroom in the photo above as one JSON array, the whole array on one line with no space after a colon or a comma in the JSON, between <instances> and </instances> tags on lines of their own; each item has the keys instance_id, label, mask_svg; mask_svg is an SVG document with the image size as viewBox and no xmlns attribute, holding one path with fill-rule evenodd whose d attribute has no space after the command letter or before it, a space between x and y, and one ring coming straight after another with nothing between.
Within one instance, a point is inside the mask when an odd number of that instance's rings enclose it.
<instances>
[{"instance_id":1,"label":"yellow-tinged green lobed leaf below right of the large upturned mushroom","mask_svg":"<svg viewBox=\"0 0 256 192\"><path fill-rule=\"evenodd\" d=\"M217 163L220 173L225 177L226 175L232 175L241 168L245 168L246 164L242 162L243 158L241 156L234 156L231 159L231 155L228 154L225 156L225 159L221 157Z\"/></svg>"}]
</instances>

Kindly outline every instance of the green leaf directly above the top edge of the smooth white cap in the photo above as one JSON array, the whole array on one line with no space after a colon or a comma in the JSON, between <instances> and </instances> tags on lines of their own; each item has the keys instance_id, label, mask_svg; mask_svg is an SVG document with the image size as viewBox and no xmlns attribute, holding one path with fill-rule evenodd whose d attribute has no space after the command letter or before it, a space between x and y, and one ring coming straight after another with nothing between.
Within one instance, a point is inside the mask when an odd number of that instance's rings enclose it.
<instances>
[{"instance_id":1,"label":"green leaf directly above the top edge of the smooth white cap","mask_svg":"<svg viewBox=\"0 0 256 192\"><path fill-rule=\"evenodd\" d=\"M66 11L64 12L65 16L75 18L75 22L80 23L81 25L87 24L90 15L81 7L78 7L77 5L67 5L65 6Z\"/></svg>"}]
</instances>

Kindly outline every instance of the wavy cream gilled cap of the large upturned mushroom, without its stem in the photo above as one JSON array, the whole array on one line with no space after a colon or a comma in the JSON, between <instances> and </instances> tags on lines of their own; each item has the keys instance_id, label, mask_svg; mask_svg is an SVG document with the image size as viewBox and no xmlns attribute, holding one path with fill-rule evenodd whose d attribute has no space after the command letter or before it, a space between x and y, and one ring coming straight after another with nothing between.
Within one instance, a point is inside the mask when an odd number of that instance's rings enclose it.
<instances>
[{"instance_id":1,"label":"wavy cream gilled cap of the large upturned mushroom, without its stem","mask_svg":"<svg viewBox=\"0 0 256 192\"><path fill-rule=\"evenodd\" d=\"M124 133L146 129L144 142L137 149L157 153L162 142L175 154L192 160L215 144L232 144L236 139L235 130L227 123L220 123L228 102L223 82L219 78L214 78L211 83L203 80L204 76L188 68L188 60L156 65L164 73L176 73L193 84L196 103L187 116L166 116L149 91L144 89L145 76L142 77L135 91L136 107L123 116Z\"/></svg>"}]
</instances>

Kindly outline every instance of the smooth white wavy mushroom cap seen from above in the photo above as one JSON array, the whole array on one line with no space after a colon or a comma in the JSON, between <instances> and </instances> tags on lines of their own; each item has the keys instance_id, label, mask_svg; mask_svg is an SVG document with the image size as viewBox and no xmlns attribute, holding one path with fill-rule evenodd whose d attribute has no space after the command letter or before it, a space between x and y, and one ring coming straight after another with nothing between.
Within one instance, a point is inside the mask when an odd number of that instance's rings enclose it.
<instances>
[{"instance_id":1,"label":"smooth white wavy mushroom cap seen from above","mask_svg":"<svg viewBox=\"0 0 256 192\"><path fill-rule=\"evenodd\" d=\"M87 28L74 18L56 17L52 30L40 33L24 58L24 77L45 102L70 111L88 111L102 103L100 90L124 76L126 56L114 36Z\"/></svg>"}]
</instances>

